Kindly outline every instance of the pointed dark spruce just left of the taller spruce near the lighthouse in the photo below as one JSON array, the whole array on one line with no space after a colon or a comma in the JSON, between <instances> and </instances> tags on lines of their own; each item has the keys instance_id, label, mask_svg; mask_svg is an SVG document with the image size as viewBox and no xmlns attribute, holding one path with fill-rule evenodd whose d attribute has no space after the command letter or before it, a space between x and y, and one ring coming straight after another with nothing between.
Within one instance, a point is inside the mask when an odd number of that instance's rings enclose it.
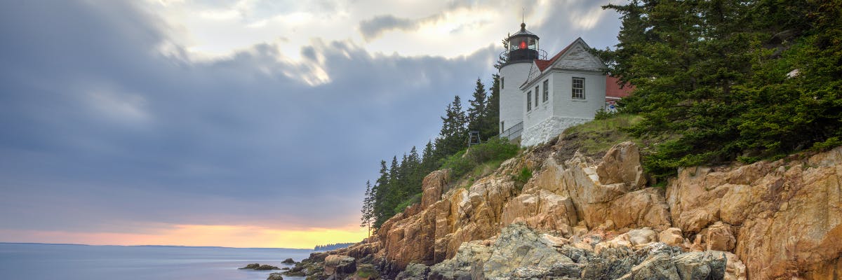
<instances>
[{"instance_id":1,"label":"pointed dark spruce just left of the taller spruce near the lighthouse","mask_svg":"<svg viewBox=\"0 0 842 280\"><path fill-rule=\"evenodd\" d=\"M439 138L435 140L436 157L445 158L467 148L467 129L465 111L462 111L461 99L457 95L447 105L445 116L441 117L442 126Z\"/></svg>"}]
</instances>

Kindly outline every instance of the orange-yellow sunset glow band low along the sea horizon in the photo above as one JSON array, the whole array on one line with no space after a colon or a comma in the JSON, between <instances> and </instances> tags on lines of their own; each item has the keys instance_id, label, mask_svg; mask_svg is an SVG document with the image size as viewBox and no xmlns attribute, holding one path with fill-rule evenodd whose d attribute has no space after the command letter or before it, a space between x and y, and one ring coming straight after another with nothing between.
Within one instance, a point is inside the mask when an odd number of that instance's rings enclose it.
<instances>
[{"instance_id":1,"label":"orange-yellow sunset glow band low along the sea horizon","mask_svg":"<svg viewBox=\"0 0 842 280\"><path fill-rule=\"evenodd\" d=\"M151 234L0 230L0 242L312 249L330 243L360 242L367 235L364 228L353 225L301 230L253 225L171 225Z\"/></svg>"}]
</instances>

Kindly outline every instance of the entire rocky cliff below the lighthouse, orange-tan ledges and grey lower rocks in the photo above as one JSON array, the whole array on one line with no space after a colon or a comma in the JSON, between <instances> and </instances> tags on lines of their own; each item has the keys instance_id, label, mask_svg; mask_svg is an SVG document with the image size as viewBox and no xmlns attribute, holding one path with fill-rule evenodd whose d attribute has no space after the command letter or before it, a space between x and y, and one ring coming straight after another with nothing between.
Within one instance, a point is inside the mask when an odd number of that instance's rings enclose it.
<instances>
[{"instance_id":1,"label":"entire rocky cliff below the lighthouse, orange-tan ledges and grey lower rocks","mask_svg":"<svg viewBox=\"0 0 842 280\"><path fill-rule=\"evenodd\" d=\"M685 168L666 188L647 187L632 142L601 158L565 149L525 151L466 188L433 172L422 203L327 255L406 279L842 277L842 148ZM525 184L522 168L535 174ZM518 242L529 246L507 246Z\"/></svg>"}]
</instances>

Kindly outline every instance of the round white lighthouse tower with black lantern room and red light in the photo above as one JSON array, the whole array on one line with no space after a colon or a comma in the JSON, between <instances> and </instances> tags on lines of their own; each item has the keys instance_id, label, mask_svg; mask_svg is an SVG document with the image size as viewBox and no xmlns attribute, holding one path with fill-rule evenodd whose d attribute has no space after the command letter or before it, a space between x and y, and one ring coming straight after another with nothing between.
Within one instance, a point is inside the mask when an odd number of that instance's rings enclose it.
<instances>
[{"instance_id":1,"label":"round white lighthouse tower with black lantern room and red light","mask_svg":"<svg viewBox=\"0 0 842 280\"><path fill-rule=\"evenodd\" d=\"M526 30L526 24L523 23L520 24L520 30L506 41L509 49L500 55L503 64L499 69L499 128L501 136L514 140L520 137L523 130L524 108L514 105L522 103L524 98L520 86L529 77L533 61L546 59L546 53L538 49L538 35Z\"/></svg>"}]
</instances>

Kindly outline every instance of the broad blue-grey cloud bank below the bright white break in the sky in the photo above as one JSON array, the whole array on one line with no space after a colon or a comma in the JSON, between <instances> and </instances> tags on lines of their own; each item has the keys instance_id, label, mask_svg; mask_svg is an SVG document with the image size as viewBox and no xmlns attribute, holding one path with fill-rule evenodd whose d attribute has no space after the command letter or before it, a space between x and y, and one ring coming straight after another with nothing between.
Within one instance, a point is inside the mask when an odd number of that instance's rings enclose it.
<instances>
[{"instance_id":1,"label":"broad blue-grey cloud bank below the bright white break in the sky","mask_svg":"<svg viewBox=\"0 0 842 280\"><path fill-rule=\"evenodd\" d=\"M379 161L434 136L496 52L402 57L316 40L306 62L272 44L194 61L178 45L163 55L167 27L131 5L0 6L11 230L353 222ZM306 82L320 71L328 80Z\"/></svg>"}]
</instances>

